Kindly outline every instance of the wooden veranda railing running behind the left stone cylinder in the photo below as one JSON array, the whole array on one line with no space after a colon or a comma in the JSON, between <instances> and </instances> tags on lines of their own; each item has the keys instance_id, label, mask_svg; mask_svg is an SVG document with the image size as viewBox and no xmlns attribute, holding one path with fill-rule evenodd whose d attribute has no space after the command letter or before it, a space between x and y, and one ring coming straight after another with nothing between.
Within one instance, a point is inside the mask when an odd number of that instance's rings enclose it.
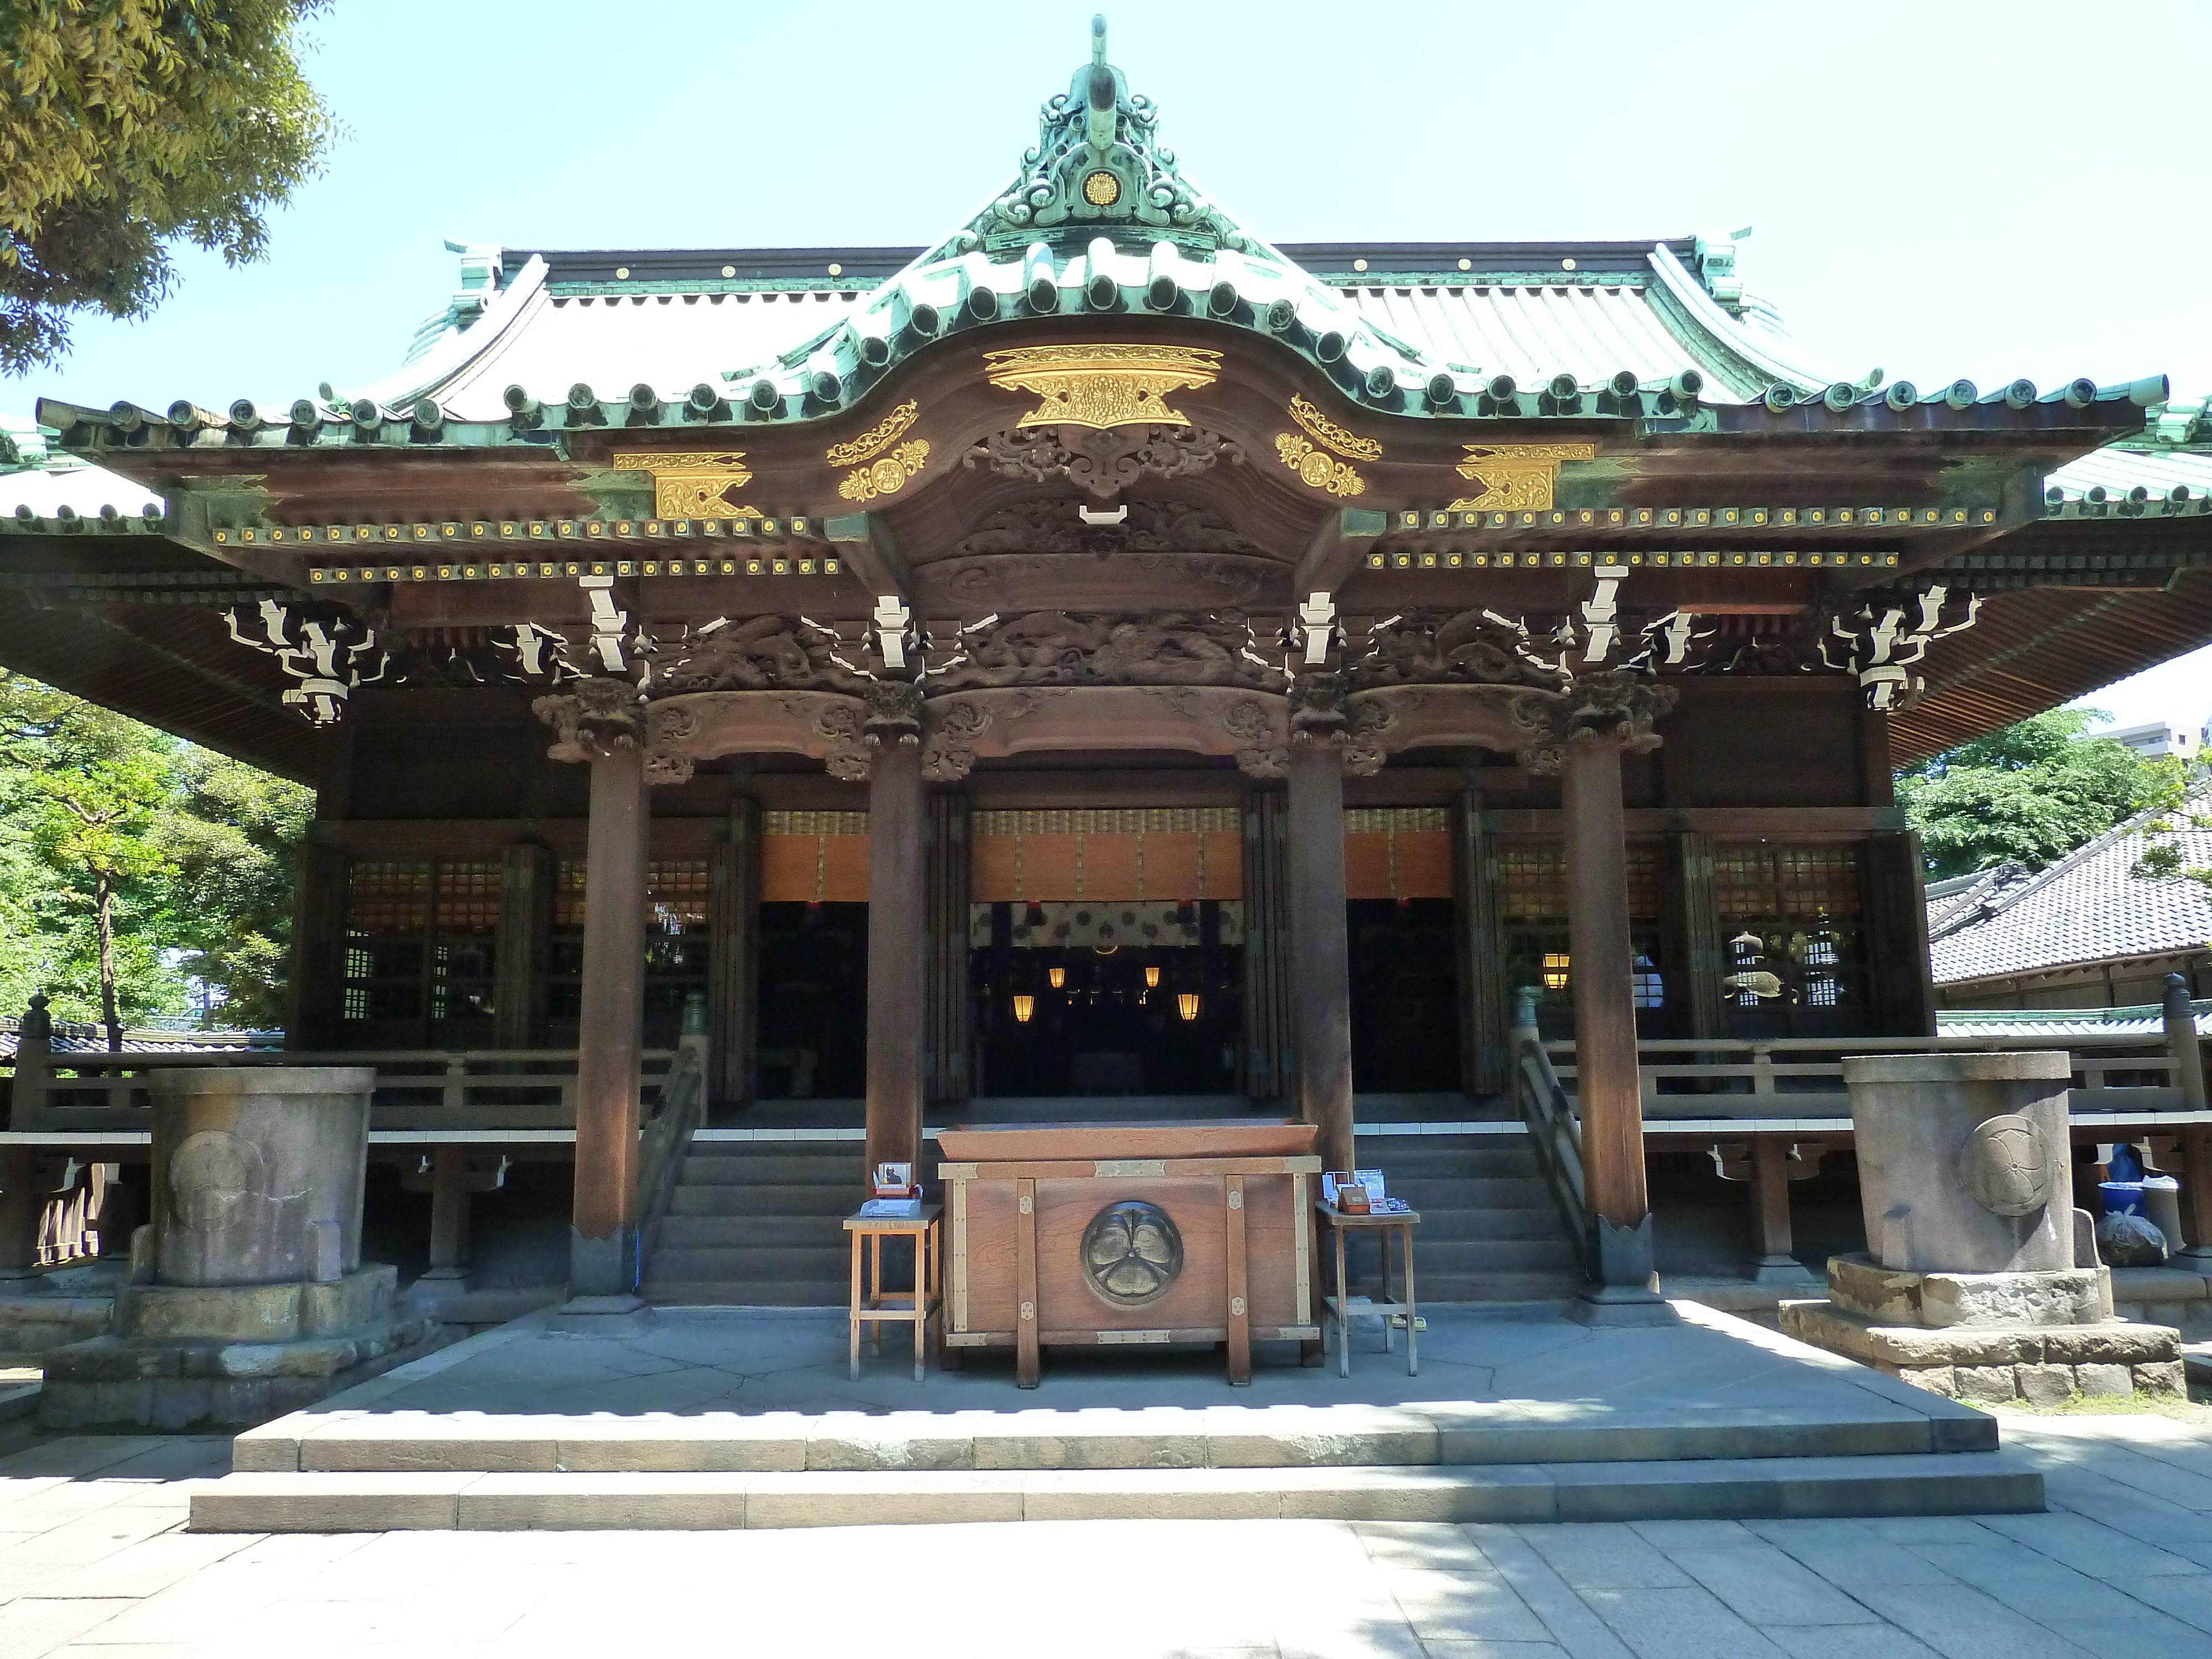
<instances>
[{"instance_id":1,"label":"wooden veranda railing running behind the left stone cylinder","mask_svg":"<svg viewBox=\"0 0 2212 1659\"><path fill-rule=\"evenodd\" d=\"M372 1130L575 1128L573 1048L296 1048L192 1053L40 1053L15 1062L9 1128L82 1133L146 1128L153 1073L181 1066L374 1066ZM675 1048L641 1055L639 1088L655 1110Z\"/></svg>"}]
</instances>

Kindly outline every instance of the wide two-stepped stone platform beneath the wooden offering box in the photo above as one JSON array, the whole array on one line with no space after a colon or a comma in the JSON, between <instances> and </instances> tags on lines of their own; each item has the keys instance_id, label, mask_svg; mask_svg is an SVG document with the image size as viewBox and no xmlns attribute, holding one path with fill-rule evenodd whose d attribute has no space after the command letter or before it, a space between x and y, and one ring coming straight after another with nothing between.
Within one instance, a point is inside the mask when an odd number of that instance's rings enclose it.
<instances>
[{"instance_id":1,"label":"wide two-stepped stone platform beneath the wooden offering box","mask_svg":"<svg viewBox=\"0 0 2212 1659\"><path fill-rule=\"evenodd\" d=\"M936 1520L1666 1520L2039 1511L1997 1422L1728 1314L1590 1329L1425 1310L1422 1374L1256 1349L845 1376L816 1310L487 1332L239 1436L195 1531L737 1528Z\"/></svg>"}]
</instances>

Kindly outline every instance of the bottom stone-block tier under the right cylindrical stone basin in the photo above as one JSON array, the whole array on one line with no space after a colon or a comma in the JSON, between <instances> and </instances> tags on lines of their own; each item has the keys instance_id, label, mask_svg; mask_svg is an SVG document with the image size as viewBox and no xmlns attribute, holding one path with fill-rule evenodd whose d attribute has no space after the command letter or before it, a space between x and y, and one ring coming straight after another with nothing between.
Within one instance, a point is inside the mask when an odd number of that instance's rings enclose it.
<instances>
[{"instance_id":1,"label":"bottom stone-block tier under the right cylindrical stone basin","mask_svg":"<svg viewBox=\"0 0 2212 1659\"><path fill-rule=\"evenodd\" d=\"M1783 1303L1785 1336L1953 1400L2057 1405L2075 1394L2185 1394L2170 1325L1876 1325L1834 1301Z\"/></svg>"}]
</instances>

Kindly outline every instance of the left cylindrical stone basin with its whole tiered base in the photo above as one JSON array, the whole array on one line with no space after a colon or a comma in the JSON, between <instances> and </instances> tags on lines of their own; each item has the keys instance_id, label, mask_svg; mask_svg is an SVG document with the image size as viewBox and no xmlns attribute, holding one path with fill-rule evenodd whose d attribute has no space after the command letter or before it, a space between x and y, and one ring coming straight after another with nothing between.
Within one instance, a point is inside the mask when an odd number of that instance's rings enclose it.
<instances>
[{"instance_id":1,"label":"left cylindrical stone basin with its whole tiered base","mask_svg":"<svg viewBox=\"0 0 2212 1659\"><path fill-rule=\"evenodd\" d=\"M51 1429L250 1427L436 1345L361 1261L365 1066L153 1079L153 1221L104 1336L46 1358Z\"/></svg>"}]
</instances>

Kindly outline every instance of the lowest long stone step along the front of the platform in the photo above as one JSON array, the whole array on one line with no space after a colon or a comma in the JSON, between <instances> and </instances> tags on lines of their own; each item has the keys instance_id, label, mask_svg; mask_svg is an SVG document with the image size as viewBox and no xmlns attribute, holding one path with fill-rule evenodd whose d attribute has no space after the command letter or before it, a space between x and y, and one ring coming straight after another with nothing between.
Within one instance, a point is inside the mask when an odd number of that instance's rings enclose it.
<instances>
[{"instance_id":1,"label":"lowest long stone step along the front of the platform","mask_svg":"<svg viewBox=\"0 0 2212 1659\"><path fill-rule=\"evenodd\" d=\"M232 1473L195 1533L883 1526L1020 1520L1621 1522L2044 1509L1995 1451L1292 1469Z\"/></svg>"}]
</instances>

